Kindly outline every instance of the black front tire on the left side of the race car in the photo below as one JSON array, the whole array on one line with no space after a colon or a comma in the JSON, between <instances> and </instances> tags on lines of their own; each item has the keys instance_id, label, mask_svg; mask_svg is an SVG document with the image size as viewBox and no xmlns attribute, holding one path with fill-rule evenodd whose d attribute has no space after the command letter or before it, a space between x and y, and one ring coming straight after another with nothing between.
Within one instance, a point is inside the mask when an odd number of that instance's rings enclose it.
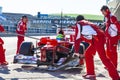
<instances>
[{"instance_id":1,"label":"black front tire on the left side of the race car","mask_svg":"<svg viewBox=\"0 0 120 80\"><path fill-rule=\"evenodd\" d=\"M19 54L25 56L33 56L34 55L34 45L32 42L23 42L20 46Z\"/></svg>"}]
</instances>

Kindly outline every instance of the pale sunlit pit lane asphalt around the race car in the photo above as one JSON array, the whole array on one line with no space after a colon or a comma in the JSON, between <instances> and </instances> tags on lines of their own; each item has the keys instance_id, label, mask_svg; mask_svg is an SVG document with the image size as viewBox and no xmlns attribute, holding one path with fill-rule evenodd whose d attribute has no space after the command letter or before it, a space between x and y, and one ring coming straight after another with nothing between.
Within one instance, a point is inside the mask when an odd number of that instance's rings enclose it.
<instances>
[{"instance_id":1,"label":"pale sunlit pit lane asphalt around the race car","mask_svg":"<svg viewBox=\"0 0 120 80\"><path fill-rule=\"evenodd\" d=\"M38 36L40 38L42 36ZM52 36L55 37L55 36ZM23 69L24 64L13 64L13 57L16 52L16 37L2 37L4 40L4 48L6 49L6 59L9 62L8 68L0 68L0 80L85 80L81 76L85 73L85 69L71 69L71 70L59 70L56 72L46 71L46 66L36 68L33 67ZM30 41L36 44L36 40L25 38L25 41ZM98 56L95 56L95 70L97 74L97 80L110 80L107 71L104 69L103 64L99 60ZM119 53L119 66L118 71L120 73L120 53ZM87 79L86 79L87 80Z\"/></svg>"}]
</instances>

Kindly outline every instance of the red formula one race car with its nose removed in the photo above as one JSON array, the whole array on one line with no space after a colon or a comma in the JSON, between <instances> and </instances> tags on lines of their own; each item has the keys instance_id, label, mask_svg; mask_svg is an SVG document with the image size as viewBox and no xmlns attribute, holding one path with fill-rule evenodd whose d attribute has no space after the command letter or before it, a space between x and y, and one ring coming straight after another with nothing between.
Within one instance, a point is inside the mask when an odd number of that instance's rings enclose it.
<instances>
[{"instance_id":1,"label":"red formula one race car with its nose removed","mask_svg":"<svg viewBox=\"0 0 120 80\"><path fill-rule=\"evenodd\" d=\"M38 67L46 65L50 71L79 65L80 59L72 57L73 42L43 37L37 45L38 47L35 48L32 42L23 42L19 54L14 57L14 63L36 64ZM88 43L82 42L80 53L83 54L88 46Z\"/></svg>"}]
</instances>

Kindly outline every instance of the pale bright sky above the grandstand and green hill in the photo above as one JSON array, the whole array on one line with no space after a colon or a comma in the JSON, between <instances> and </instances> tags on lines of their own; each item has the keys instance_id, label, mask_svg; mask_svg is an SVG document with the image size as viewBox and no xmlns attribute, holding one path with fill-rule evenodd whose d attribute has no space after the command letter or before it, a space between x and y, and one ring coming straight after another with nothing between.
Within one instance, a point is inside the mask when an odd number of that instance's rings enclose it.
<instances>
[{"instance_id":1,"label":"pale bright sky above the grandstand and green hill","mask_svg":"<svg viewBox=\"0 0 120 80\"><path fill-rule=\"evenodd\" d=\"M37 15L52 13L96 14L106 0L0 0L2 12L28 13Z\"/></svg>"}]
</instances>

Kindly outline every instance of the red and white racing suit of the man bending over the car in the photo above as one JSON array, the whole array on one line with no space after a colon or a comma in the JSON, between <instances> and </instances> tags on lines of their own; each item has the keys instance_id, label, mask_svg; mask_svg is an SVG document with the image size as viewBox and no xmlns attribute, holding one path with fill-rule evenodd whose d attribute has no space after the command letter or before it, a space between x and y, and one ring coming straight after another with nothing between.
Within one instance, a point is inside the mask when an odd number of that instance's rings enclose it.
<instances>
[{"instance_id":1,"label":"red and white racing suit of the man bending over the car","mask_svg":"<svg viewBox=\"0 0 120 80\"><path fill-rule=\"evenodd\" d=\"M94 25L93 23L82 20L76 24L76 32L75 32L76 54L79 52L79 44L81 41L85 41L90 44L88 49L85 51L87 75L95 75L93 58L97 51L102 63L107 67L107 70L111 78L113 80L118 80L119 79L118 72L105 53L104 32L100 30L98 26Z\"/></svg>"}]
</instances>

